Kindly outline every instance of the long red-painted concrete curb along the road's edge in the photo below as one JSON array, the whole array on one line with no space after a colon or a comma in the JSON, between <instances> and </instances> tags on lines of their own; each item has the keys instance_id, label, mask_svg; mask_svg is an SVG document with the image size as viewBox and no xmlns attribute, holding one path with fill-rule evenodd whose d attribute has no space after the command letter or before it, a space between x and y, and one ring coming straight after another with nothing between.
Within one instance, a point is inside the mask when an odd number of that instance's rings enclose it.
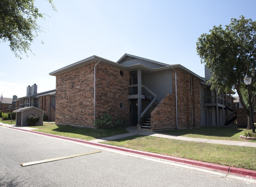
<instances>
[{"instance_id":1,"label":"long red-painted concrete curb along the road's edge","mask_svg":"<svg viewBox=\"0 0 256 187\"><path fill-rule=\"evenodd\" d=\"M0 125L3 126L3 125ZM219 164L215 164L215 163L209 163L209 162L202 162L202 161L197 161L197 160L191 160L191 159L186 159L186 158L178 158L178 157L174 157L174 156L168 156L168 155L163 155L163 154L158 154L158 153L150 153L150 152L146 152L146 151L138 151L135 149L128 149L128 148L124 148L124 147L117 147L114 145L107 145L107 144L102 144L102 143L96 143L96 142L89 142L86 140L79 140L79 139L75 139L75 138L69 138L69 137L65 137L65 136L58 136L58 135L54 135L54 134L47 134L47 133L41 133L41 132L37 132L37 131L30 131L30 130L26 130L26 129L18 129L15 127L9 127L10 129L16 129L19 131L25 131L25 132L30 132L30 133L34 133L34 134L40 134L40 135L44 135L44 136L49 136L49 137L53 137L53 138L59 138L59 139L63 139L63 140L70 140L70 141L74 141L74 142L79 142L79 143L85 143L88 145L94 145L97 147L104 147L104 148L108 148L108 149L114 149L117 151L123 151L126 153L130 153L130 154L138 154L141 156L146 156L149 158L156 158L158 160L164 160L164 161L169 161L169 162L175 162L175 163L180 163L180 164L184 164L184 165L190 165L193 167L199 167L202 169L208 169L211 171L218 171L218 172L223 172L226 174L233 174L233 175L237 175L237 176L242 176L245 178L250 178L250 179L256 179L256 171L253 170L248 170L248 169L242 169L242 168L236 168L236 167L229 167L226 165L219 165Z\"/></svg>"}]
</instances>

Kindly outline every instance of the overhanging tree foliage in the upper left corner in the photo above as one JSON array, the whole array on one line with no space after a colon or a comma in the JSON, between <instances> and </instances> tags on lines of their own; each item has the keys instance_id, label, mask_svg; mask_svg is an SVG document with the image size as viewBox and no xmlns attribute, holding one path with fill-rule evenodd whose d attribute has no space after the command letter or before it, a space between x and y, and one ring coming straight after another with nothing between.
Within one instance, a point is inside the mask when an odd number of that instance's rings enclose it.
<instances>
[{"instance_id":1,"label":"overhanging tree foliage in the upper left corner","mask_svg":"<svg viewBox=\"0 0 256 187\"><path fill-rule=\"evenodd\" d=\"M48 0L56 11L52 0ZM9 41L11 51L16 57L27 54L31 42L43 31L37 24L38 18L45 18L35 7L34 0L0 0L0 39ZM0 42L1 42L0 40Z\"/></svg>"}]
</instances>

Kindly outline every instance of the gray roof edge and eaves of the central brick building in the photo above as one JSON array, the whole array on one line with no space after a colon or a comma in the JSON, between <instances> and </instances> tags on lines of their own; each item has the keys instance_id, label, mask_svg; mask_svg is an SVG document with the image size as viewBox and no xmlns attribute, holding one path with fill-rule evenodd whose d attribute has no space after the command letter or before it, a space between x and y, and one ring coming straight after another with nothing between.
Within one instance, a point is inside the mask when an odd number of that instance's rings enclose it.
<instances>
[{"instance_id":1,"label":"gray roof edge and eaves of the central brick building","mask_svg":"<svg viewBox=\"0 0 256 187\"><path fill-rule=\"evenodd\" d=\"M146 65L143 65L143 64L132 64L132 65L129 65L129 66L119 64L119 62L121 62L122 59L126 58L127 56L131 56L131 57L134 57L134 58L139 58L141 60L146 60L148 62L160 64L160 65L162 65L162 67L150 68L150 67L148 67ZM101 58L99 56L94 55L94 56L91 56L89 58L85 58L83 60L75 62L73 64L67 65L67 66L65 66L61 69L56 70L56 71L53 71L53 72L49 73L49 75L57 76L58 74L68 72L72 69L76 69L78 67L81 67L83 65L90 64L90 63L93 63L93 62L106 63L106 64L114 66L114 67L118 67L118 68L121 68L121 69L126 69L128 71L133 71L133 70L136 70L136 69L140 68L140 69L142 69L143 71L145 71L147 73L150 73L150 72L153 72L153 71L161 71L161 70L165 70L165 69L174 69L175 68L175 69L179 69L181 71L185 71L189 74L192 74L192 75L196 76L200 81L205 81L204 78L200 77L199 75L195 74L194 72L190 71L189 69L187 69L186 67L184 67L180 64L173 64L173 65L164 64L164 63L161 63L161 62L156 62L154 60L148 60L146 58L137 57L137 56L134 56L134 55L131 55L131 54L124 54L124 56L122 56L122 58L120 60L118 60L117 62L112 62L110 60L106 60L104 58Z\"/></svg>"}]
</instances>

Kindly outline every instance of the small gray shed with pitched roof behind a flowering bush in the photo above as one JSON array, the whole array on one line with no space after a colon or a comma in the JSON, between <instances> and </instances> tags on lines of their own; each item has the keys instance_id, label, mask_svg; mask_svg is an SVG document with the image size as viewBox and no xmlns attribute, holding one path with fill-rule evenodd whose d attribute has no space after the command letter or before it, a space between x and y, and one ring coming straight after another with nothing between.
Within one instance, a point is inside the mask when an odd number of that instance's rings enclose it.
<instances>
[{"instance_id":1,"label":"small gray shed with pitched roof behind a flowering bush","mask_svg":"<svg viewBox=\"0 0 256 187\"><path fill-rule=\"evenodd\" d=\"M44 118L44 113L45 111L37 108L37 107L24 107L24 108L20 108L17 109L15 111L13 111L16 113L16 125L20 125L20 126L28 126L28 123L26 122L27 116L30 115L35 115L37 114L37 116L40 117L39 122L37 122L35 125L39 126L39 125L43 125L43 118Z\"/></svg>"}]
</instances>

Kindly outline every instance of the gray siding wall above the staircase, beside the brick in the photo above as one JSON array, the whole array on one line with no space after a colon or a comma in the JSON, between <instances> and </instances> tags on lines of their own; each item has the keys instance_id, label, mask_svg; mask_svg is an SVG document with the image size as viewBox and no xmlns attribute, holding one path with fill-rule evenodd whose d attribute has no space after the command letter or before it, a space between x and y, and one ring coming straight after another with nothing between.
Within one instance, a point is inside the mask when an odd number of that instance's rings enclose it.
<instances>
[{"instance_id":1,"label":"gray siding wall above the staircase, beside the brick","mask_svg":"<svg viewBox=\"0 0 256 187\"><path fill-rule=\"evenodd\" d=\"M157 95L158 102L160 102L166 94L173 94L172 70L150 74L143 73L142 84L154 92Z\"/></svg>"}]
</instances>

